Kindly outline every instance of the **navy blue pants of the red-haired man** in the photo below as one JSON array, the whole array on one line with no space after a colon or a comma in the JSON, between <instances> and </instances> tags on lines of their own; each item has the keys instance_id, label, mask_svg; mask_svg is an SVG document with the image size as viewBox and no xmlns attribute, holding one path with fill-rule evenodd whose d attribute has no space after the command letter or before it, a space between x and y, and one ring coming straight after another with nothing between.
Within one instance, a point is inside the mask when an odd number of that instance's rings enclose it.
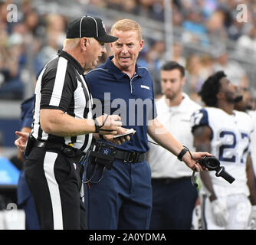
<instances>
[{"instance_id":1,"label":"navy blue pants of the red-haired man","mask_svg":"<svg viewBox=\"0 0 256 245\"><path fill-rule=\"evenodd\" d=\"M87 176L91 174L90 165ZM100 178L97 168L93 181ZM152 209L151 172L147 162L113 162L103 179L84 187L88 229L149 229Z\"/></svg>"}]
</instances>

